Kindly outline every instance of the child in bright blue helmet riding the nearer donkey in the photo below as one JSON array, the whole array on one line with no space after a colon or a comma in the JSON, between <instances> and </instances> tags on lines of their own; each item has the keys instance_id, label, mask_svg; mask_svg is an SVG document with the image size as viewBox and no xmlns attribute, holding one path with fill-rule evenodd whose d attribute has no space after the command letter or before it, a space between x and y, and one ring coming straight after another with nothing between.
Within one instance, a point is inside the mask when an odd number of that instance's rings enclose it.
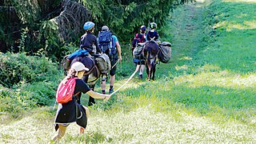
<instances>
[{"instance_id":1,"label":"child in bright blue helmet riding the nearer donkey","mask_svg":"<svg viewBox=\"0 0 256 144\"><path fill-rule=\"evenodd\" d=\"M101 54L102 50L98 46L97 37L94 35L94 22L86 22L83 29L86 30L86 34L83 34L80 40L80 48L87 50L89 54ZM96 47L96 50L94 50Z\"/></svg>"}]
</instances>

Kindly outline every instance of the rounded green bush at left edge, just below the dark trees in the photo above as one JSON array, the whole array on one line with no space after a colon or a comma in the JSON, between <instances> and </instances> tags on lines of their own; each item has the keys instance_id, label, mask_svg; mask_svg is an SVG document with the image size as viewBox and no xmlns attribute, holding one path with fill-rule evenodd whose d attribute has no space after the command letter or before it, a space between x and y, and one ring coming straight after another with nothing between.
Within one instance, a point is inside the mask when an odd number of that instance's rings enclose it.
<instances>
[{"instance_id":1,"label":"rounded green bush at left edge, just below the dark trees","mask_svg":"<svg viewBox=\"0 0 256 144\"><path fill-rule=\"evenodd\" d=\"M0 67L0 82L8 88L21 83L47 81L58 73L58 66L48 58L30 57L24 53L0 53Z\"/></svg>"}]
</instances>

